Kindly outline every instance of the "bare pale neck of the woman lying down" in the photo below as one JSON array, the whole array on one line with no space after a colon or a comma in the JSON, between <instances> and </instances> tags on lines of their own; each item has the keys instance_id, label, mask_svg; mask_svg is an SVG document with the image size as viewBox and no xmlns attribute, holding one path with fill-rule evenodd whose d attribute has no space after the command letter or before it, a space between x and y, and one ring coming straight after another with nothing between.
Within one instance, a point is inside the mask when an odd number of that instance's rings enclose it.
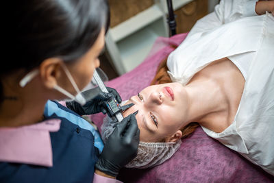
<instances>
[{"instance_id":1,"label":"bare pale neck of the woman lying down","mask_svg":"<svg viewBox=\"0 0 274 183\"><path fill-rule=\"evenodd\" d=\"M227 101L218 84L212 80L196 80L186 86L188 121L210 127L217 114L227 111Z\"/></svg>"}]
</instances>

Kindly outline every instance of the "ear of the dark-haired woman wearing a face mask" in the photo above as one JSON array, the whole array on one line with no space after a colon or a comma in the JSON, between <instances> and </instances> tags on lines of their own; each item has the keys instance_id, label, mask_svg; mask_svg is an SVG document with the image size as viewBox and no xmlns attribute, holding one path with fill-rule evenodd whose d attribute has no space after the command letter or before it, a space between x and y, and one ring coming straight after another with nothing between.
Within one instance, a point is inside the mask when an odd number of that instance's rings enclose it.
<instances>
[{"instance_id":1,"label":"ear of the dark-haired woman wearing a face mask","mask_svg":"<svg viewBox=\"0 0 274 183\"><path fill-rule=\"evenodd\" d=\"M53 88L57 84L58 77L62 74L62 60L48 58L40 64L40 77L47 88Z\"/></svg>"}]
</instances>

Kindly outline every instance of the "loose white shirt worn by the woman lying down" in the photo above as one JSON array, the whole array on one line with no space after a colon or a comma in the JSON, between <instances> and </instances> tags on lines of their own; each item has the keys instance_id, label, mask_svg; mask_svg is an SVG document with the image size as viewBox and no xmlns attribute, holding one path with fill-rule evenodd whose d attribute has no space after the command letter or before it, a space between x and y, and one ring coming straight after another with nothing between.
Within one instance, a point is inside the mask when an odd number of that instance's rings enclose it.
<instances>
[{"instance_id":1,"label":"loose white shirt worn by the woman lying down","mask_svg":"<svg viewBox=\"0 0 274 183\"><path fill-rule=\"evenodd\" d=\"M186 85L214 60L229 58L245 77L232 125L203 130L274 175L274 17L256 16L256 1L222 0L197 21L168 58L173 82Z\"/></svg>"}]
</instances>

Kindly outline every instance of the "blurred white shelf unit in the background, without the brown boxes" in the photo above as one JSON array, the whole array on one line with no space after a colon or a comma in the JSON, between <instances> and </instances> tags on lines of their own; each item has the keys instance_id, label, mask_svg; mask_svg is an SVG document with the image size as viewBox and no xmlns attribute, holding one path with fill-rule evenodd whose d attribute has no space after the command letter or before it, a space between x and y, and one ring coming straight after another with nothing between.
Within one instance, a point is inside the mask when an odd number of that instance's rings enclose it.
<instances>
[{"instance_id":1,"label":"blurred white shelf unit in the background, without the brown boxes","mask_svg":"<svg viewBox=\"0 0 274 183\"><path fill-rule=\"evenodd\" d=\"M173 10L192 0L173 0ZM166 0L154 0L154 4L127 21L112 27L105 37L106 49L119 75L140 64L159 36L169 36Z\"/></svg>"}]
</instances>

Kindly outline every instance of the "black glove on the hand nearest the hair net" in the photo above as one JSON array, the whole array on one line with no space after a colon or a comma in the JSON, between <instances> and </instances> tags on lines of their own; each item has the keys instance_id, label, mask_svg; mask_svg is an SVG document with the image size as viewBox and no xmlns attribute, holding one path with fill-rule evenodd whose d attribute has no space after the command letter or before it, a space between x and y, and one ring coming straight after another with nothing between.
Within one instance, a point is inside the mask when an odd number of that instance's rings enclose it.
<instances>
[{"instance_id":1,"label":"black glove on the hand nearest the hair net","mask_svg":"<svg viewBox=\"0 0 274 183\"><path fill-rule=\"evenodd\" d=\"M96 169L116 177L119 170L137 155L140 130L134 114L118 123L95 164Z\"/></svg>"}]
</instances>

